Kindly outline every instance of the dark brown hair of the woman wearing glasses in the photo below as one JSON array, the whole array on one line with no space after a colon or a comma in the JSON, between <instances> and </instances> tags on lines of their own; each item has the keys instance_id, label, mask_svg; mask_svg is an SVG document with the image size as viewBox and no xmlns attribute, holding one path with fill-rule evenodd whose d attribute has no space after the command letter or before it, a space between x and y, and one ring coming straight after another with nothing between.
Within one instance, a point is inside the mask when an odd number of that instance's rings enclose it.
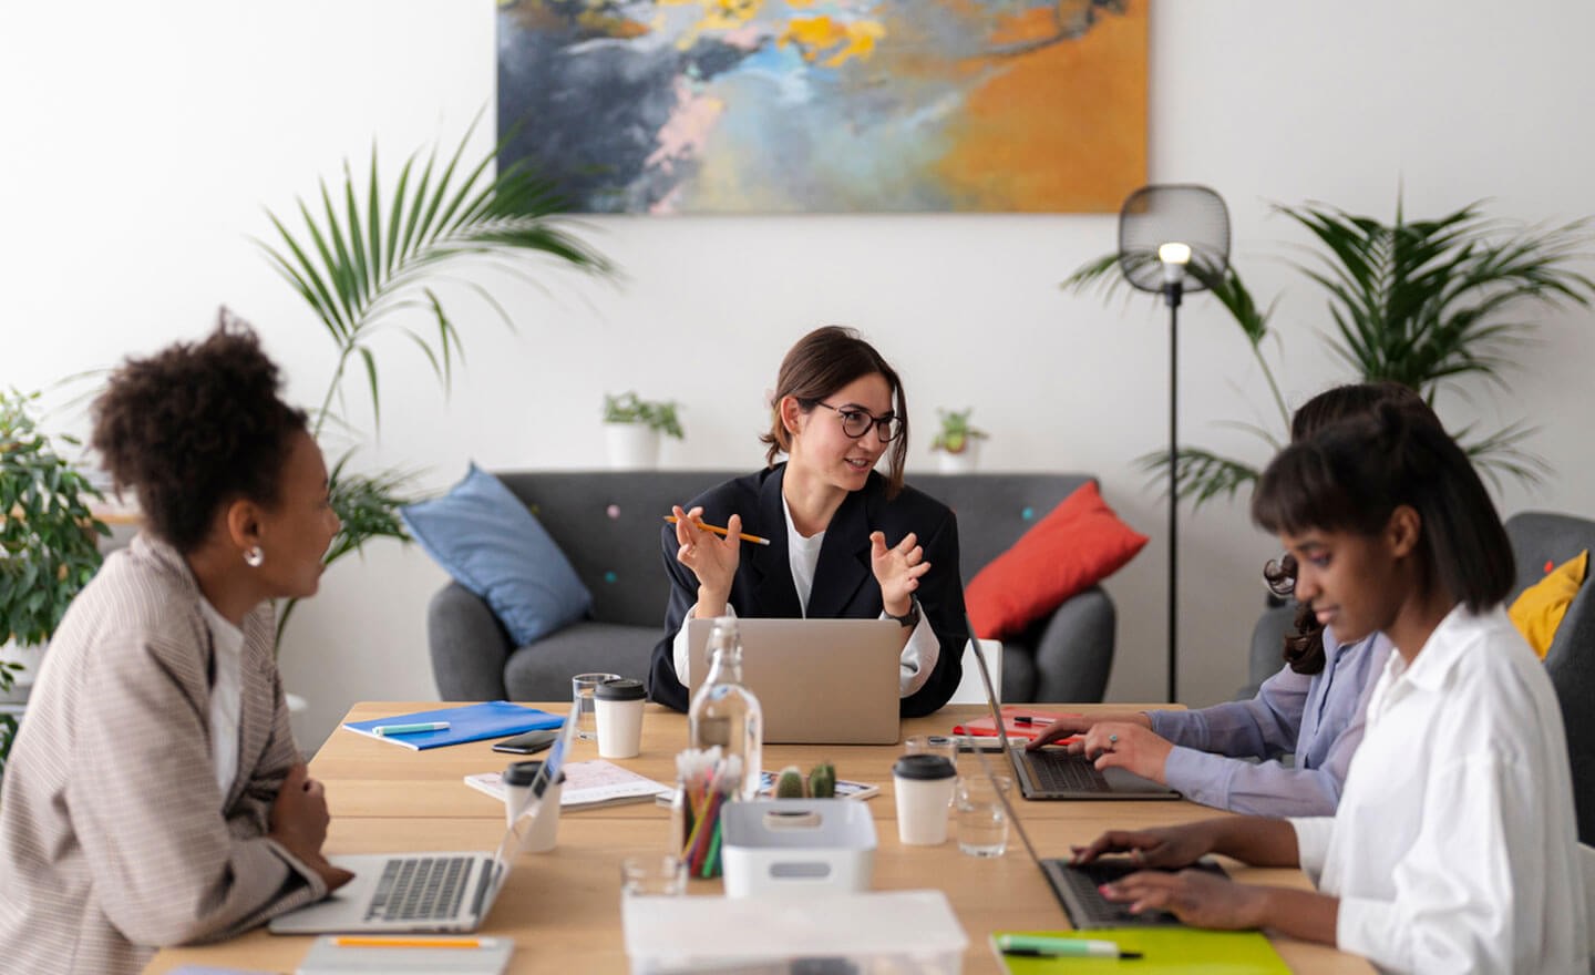
<instances>
[{"instance_id":1,"label":"dark brown hair of the woman wearing glasses","mask_svg":"<svg viewBox=\"0 0 1595 975\"><path fill-rule=\"evenodd\" d=\"M892 412L901 426L892 440L892 472L887 476L887 498L896 498L903 490L903 468L908 463L908 399L903 394L903 381L876 346L860 338L853 329L842 326L825 326L809 332L782 359L782 370L775 377L775 397L770 402L774 413L770 432L759 437L761 444L769 445L764 463L774 468L778 455L791 452L791 434L782 423L783 397L791 396L802 405L804 413L812 413L815 404L825 397L853 380L874 373L885 378L895 404ZM864 436L874 436L874 431Z\"/></svg>"}]
</instances>

